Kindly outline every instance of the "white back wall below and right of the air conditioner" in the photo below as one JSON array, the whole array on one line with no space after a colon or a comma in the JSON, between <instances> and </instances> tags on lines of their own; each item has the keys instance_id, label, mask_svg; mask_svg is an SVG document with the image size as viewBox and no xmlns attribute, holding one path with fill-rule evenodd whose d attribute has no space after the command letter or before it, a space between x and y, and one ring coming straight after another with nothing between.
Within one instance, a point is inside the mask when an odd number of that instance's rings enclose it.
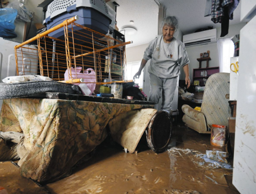
<instances>
[{"instance_id":1,"label":"white back wall below and right of the air conditioner","mask_svg":"<svg viewBox=\"0 0 256 194\"><path fill-rule=\"evenodd\" d=\"M230 25L228 34L226 35L226 37L240 34L240 30L244 25L246 25L246 23ZM221 27L217 28L217 38L220 38L220 35L221 35ZM209 61L209 67L219 66L217 43L213 43L210 45L186 47L186 52L188 52L188 57L190 60L189 77L191 82L193 81L193 69L199 68L199 62L196 59L200 58L200 53L204 53L207 51L210 51L210 57L211 57L211 60ZM206 62L202 62L202 68L205 68L205 67L206 67ZM180 80L185 79L185 74L183 70L181 70L179 79Z\"/></svg>"}]
</instances>

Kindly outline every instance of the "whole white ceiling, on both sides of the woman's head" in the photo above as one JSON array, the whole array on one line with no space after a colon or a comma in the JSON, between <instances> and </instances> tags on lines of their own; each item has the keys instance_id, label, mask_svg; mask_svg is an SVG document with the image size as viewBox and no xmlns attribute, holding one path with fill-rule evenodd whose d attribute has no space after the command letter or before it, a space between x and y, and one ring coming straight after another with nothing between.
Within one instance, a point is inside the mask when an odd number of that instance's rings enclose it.
<instances>
[{"instance_id":1,"label":"whole white ceiling, on both sides of the woman's head","mask_svg":"<svg viewBox=\"0 0 256 194\"><path fill-rule=\"evenodd\" d=\"M116 2L117 7L116 21L119 31L124 27L134 27L137 32L135 35L125 35L126 41L134 43L126 47L143 45L157 36L158 24L158 5L154 0L111 0L108 4ZM156 0L157 1L157 0ZM183 35L191 34L195 30L212 26L221 27L221 24L214 24L211 16L204 17L206 0L158 0L167 8L166 15L177 16L179 29ZM241 3L234 10L233 20L230 25L240 23ZM134 24L130 24L134 20ZM124 34L125 32L122 31Z\"/></svg>"}]
</instances>

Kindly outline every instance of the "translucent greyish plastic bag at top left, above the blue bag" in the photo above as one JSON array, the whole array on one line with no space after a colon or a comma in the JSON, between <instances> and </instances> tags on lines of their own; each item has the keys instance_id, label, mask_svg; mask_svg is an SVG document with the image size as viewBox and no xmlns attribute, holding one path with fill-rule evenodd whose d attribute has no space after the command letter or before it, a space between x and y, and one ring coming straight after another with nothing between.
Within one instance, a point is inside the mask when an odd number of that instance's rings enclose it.
<instances>
[{"instance_id":1,"label":"translucent greyish plastic bag at top left, above the blue bag","mask_svg":"<svg viewBox=\"0 0 256 194\"><path fill-rule=\"evenodd\" d=\"M18 12L17 18L26 22L31 21L31 18L33 18L33 15L29 12L28 8L23 3L20 3L18 1L14 1L12 3L9 3L8 8L16 9Z\"/></svg>"}]
</instances>

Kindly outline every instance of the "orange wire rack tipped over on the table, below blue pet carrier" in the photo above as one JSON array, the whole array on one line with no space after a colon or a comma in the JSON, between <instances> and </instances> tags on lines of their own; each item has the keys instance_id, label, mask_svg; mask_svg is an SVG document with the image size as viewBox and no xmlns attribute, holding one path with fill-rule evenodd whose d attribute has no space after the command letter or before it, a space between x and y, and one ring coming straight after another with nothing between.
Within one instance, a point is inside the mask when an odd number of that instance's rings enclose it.
<instances>
[{"instance_id":1,"label":"orange wire rack tipped over on the table, below blue pet carrier","mask_svg":"<svg viewBox=\"0 0 256 194\"><path fill-rule=\"evenodd\" d=\"M48 76L67 83L105 84L104 79L124 82L125 45L132 42L122 42L74 23L77 19L78 16L74 16L15 46L17 75ZM61 28L65 38L49 36ZM37 41L38 51L29 47L33 41ZM30 58L25 57L27 54ZM35 59L39 59L38 63ZM68 75L66 80L65 72Z\"/></svg>"}]
</instances>

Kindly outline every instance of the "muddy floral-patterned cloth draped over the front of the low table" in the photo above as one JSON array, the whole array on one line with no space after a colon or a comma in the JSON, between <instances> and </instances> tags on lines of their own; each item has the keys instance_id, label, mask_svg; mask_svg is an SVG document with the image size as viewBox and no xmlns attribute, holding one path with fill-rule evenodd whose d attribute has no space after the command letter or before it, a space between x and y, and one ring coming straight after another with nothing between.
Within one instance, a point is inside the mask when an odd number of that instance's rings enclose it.
<instances>
[{"instance_id":1,"label":"muddy floral-patterned cloth draped over the front of the low table","mask_svg":"<svg viewBox=\"0 0 256 194\"><path fill-rule=\"evenodd\" d=\"M111 119L142 108L153 105L4 99L0 131L24 133L25 153L18 162L21 175L50 182L70 175L72 167L103 142Z\"/></svg>"}]
</instances>

